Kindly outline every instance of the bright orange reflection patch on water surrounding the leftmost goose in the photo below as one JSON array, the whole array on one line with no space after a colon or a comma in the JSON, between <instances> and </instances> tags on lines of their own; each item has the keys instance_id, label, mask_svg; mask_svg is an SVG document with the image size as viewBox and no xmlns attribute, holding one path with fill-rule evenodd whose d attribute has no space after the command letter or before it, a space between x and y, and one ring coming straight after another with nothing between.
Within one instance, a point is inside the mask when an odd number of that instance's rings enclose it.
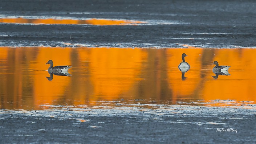
<instances>
[{"instance_id":1,"label":"bright orange reflection patch on water surrounding the leftmost goose","mask_svg":"<svg viewBox=\"0 0 256 144\"><path fill-rule=\"evenodd\" d=\"M37 64L34 69L47 70L49 65L45 65L46 59L52 59L53 65L71 65L70 48L42 48L37 53ZM66 95L66 87L70 83L70 77L54 77L54 81L45 81L45 77L49 77L48 72L40 71L44 77L37 75L34 77L34 103L36 106L43 103L54 104L54 100L60 100L63 95ZM38 72L39 73L39 72ZM57 82L55 82L55 80Z\"/></svg>"}]
</instances>

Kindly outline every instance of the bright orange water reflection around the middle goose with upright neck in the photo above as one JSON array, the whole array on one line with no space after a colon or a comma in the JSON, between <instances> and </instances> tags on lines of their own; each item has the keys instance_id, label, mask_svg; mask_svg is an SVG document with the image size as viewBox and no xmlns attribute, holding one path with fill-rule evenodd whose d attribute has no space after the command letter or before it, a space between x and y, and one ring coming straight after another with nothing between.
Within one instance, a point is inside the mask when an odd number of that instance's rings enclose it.
<instances>
[{"instance_id":1,"label":"bright orange water reflection around the middle goose with upright neck","mask_svg":"<svg viewBox=\"0 0 256 144\"><path fill-rule=\"evenodd\" d=\"M189 62L191 65L190 70L185 73L185 77L188 77L187 81L180 81L181 80L181 73L180 74L173 74L174 71L167 71L168 81L177 81L175 85L169 85L170 89L172 89L173 97L179 99L180 95L194 95L195 90L197 89L198 85L200 85L200 71L199 69L202 67L202 63L199 62L200 55L203 52L203 49L186 49L186 54L188 55L185 60ZM167 50L167 65L168 67L174 68L176 70L177 62L180 63L182 61L181 54L184 53L184 49L175 49L174 50ZM177 61L177 62L175 62ZM184 87L187 85L187 87Z\"/></svg>"}]
</instances>

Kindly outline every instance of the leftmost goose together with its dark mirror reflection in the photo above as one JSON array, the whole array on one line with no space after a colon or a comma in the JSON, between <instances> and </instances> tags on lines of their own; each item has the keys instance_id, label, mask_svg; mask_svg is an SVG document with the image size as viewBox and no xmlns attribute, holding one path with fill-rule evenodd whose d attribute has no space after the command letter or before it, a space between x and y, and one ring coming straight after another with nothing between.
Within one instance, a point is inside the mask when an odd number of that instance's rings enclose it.
<instances>
[{"instance_id":1,"label":"leftmost goose together with its dark mirror reflection","mask_svg":"<svg viewBox=\"0 0 256 144\"><path fill-rule=\"evenodd\" d=\"M60 75L60 76L71 76L69 73L68 73L68 69L71 67L71 66L54 66L53 67L53 61L52 60L49 60L47 64L50 64L50 67L48 68L48 73L50 74L50 77L46 77L49 81L52 81L53 79L53 74L54 75Z\"/></svg>"}]
</instances>

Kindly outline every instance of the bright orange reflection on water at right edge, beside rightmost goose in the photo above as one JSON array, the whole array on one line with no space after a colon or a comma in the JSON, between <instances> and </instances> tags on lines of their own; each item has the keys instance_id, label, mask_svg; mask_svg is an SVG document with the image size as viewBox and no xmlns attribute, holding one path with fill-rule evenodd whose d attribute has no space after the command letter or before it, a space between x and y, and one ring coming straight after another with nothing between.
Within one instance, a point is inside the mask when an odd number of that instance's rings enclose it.
<instances>
[{"instance_id":1,"label":"bright orange reflection on water at right edge, beside rightmost goose","mask_svg":"<svg viewBox=\"0 0 256 144\"><path fill-rule=\"evenodd\" d=\"M256 57L255 49L216 49L214 60L220 65L230 65L230 76L222 76L218 81L207 81L203 89L205 100L233 99L237 101L256 101L255 73ZM221 63L220 63L221 62ZM214 75L214 74L213 74Z\"/></svg>"}]
</instances>

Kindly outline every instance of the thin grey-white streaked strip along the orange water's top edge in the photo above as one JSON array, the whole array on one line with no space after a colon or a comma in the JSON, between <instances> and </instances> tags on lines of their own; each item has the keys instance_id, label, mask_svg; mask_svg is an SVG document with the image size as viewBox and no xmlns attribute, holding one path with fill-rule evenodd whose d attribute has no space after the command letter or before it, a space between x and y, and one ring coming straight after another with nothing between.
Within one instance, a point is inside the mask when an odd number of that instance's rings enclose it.
<instances>
[{"instance_id":1,"label":"thin grey-white streaked strip along the orange water's top edge","mask_svg":"<svg viewBox=\"0 0 256 144\"><path fill-rule=\"evenodd\" d=\"M150 43L107 43L107 44L90 44L90 43L73 43L65 44L69 42L58 42L58 41L26 41L26 40L0 40L1 47L70 47L70 48L80 48L80 47L89 47L89 48L102 48L102 47L115 47L115 48L156 48L156 49L165 49L165 48L187 48L188 45L194 48L210 48L210 49L232 49L232 48L253 48L255 46L239 46L239 45L227 45L227 44L150 44Z\"/></svg>"}]
</instances>

